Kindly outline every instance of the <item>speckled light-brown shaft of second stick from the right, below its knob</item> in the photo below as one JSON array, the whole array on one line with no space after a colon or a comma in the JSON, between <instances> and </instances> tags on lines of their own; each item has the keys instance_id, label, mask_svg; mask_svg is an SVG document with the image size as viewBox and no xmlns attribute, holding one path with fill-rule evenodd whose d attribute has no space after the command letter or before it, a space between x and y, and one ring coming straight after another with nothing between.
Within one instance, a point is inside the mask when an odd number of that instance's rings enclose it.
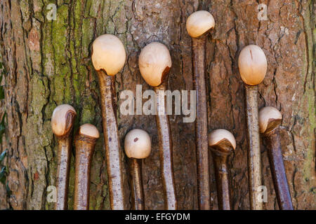
<instances>
[{"instance_id":1,"label":"speckled light-brown shaft of second stick from the right, below its knob","mask_svg":"<svg viewBox=\"0 0 316 224\"><path fill-rule=\"evenodd\" d=\"M262 210L263 202L258 199L261 186L261 152L258 124L258 87L245 85L246 89L246 120L248 144L248 179L251 210Z\"/></svg>"}]
</instances>

